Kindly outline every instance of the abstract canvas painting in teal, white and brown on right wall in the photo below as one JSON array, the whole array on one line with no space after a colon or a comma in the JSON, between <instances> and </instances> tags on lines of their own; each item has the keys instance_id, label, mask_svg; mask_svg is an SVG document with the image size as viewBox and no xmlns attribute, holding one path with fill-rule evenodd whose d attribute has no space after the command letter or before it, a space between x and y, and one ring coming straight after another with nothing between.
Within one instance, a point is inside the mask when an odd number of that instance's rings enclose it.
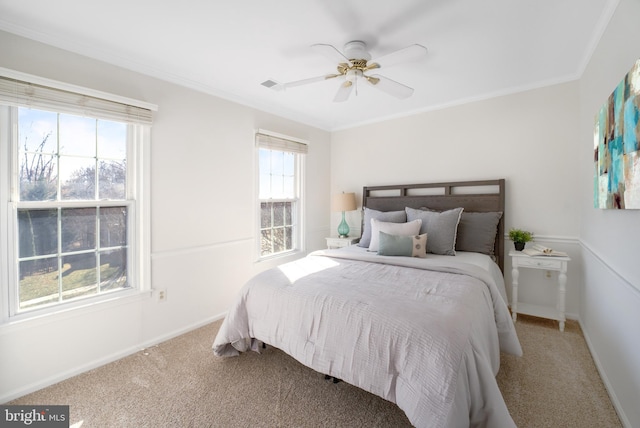
<instances>
[{"instance_id":1,"label":"abstract canvas painting in teal, white and brown on right wall","mask_svg":"<svg viewBox=\"0 0 640 428\"><path fill-rule=\"evenodd\" d=\"M594 206L640 209L640 59L604 103L594 127Z\"/></svg>"}]
</instances>

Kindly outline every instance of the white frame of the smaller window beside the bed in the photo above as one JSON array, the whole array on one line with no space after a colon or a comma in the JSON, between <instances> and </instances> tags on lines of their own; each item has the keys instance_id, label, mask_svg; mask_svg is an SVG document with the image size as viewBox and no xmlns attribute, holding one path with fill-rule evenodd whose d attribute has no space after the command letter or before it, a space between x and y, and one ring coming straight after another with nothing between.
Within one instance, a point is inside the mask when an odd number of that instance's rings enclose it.
<instances>
[{"instance_id":1,"label":"white frame of the smaller window beside the bed","mask_svg":"<svg viewBox=\"0 0 640 428\"><path fill-rule=\"evenodd\" d=\"M262 143L260 140L262 139ZM274 146L265 146L265 139L269 139L275 142ZM291 145L297 145L302 150L297 151L292 149ZM304 183L305 183L305 162L308 142L295 137L289 137L283 134L258 130L256 132L256 145L255 145L255 159L256 159L256 260L258 262L287 257L292 254L297 254L305 251L305 238L304 238L304 224L305 224L305 210L304 210ZM304 145L304 146L300 146ZM289 149L287 148L289 147ZM294 154L294 193L293 198L260 198L260 149L274 150L285 153ZM264 202L293 202L292 209L292 248L290 250L281 251L278 253L262 254L262 203Z\"/></svg>"}]
</instances>

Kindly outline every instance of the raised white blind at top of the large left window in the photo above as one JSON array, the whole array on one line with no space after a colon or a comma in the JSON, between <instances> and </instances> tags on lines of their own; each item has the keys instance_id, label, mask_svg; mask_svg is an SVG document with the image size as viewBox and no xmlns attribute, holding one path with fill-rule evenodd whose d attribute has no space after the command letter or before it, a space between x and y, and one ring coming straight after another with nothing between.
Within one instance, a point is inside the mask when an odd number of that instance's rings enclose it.
<instances>
[{"instance_id":1,"label":"raised white blind at top of the large left window","mask_svg":"<svg viewBox=\"0 0 640 428\"><path fill-rule=\"evenodd\" d=\"M151 125L150 109L0 76L0 104Z\"/></svg>"}]
</instances>

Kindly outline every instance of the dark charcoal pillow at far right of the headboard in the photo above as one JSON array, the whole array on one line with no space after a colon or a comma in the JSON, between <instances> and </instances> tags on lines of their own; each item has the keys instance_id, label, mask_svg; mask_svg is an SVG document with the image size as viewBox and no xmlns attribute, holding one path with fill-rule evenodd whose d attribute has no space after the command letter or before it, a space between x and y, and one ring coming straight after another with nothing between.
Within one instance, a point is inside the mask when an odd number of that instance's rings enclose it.
<instances>
[{"instance_id":1,"label":"dark charcoal pillow at far right of the headboard","mask_svg":"<svg viewBox=\"0 0 640 428\"><path fill-rule=\"evenodd\" d=\"M458 225L456 250L493 256L493 245L501 217L502 212L463 212Z\"/></svg>"}]
</instances>

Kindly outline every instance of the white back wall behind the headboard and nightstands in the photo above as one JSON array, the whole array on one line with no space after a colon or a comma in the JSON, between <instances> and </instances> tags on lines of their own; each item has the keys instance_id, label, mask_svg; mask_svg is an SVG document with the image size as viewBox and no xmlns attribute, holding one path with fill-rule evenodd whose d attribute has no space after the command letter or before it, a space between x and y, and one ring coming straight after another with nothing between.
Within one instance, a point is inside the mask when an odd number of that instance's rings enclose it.
<instances>
[{"instance_id":1,"label":"white back wall behind the headboard and nightstands","mask_svg":"<svg viewBox=\"0 0 640 428\"><path fill-rule=\"evenodd\" d=\"M567 312L577 318L577 104L578 83L569 82L335 132L332 191L356 192L361 200L366 185L504 178L506 229L531 230L538 242L575 258L569 265ZM349 224L359 228L359 216L349 213ZM332 215L332 230L337 221ZM513 244L508 241L506 248ZM510 266L505 260L508 284ZM523 269L520 296L553 305L556 280ZM507 292L510 296L510 287Z\"/></svg>"}]
</instances>

